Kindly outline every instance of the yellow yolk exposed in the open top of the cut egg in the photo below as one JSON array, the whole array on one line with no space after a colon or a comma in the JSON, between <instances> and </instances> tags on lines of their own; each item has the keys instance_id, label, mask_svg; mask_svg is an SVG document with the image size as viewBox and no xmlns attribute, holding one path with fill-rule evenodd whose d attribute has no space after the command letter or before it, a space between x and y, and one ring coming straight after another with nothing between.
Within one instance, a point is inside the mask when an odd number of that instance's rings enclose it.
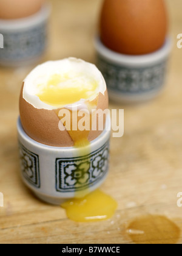
<instances>
[{"instance_id":1,"label":"yellow yolk exposed in the open top of the cut egg","mask_svg":"<svg viewBox=\"0 0 182 256\"><path fill-rule=\"evenodd\" d=\"M39 92L36 96L45 104L61 108L81 99L89 99L96 94L97 88L98 83L94 79L81 74L74 77L69 74L54 74L46 85L38 85Z\"/></svg>"}]
</instances>

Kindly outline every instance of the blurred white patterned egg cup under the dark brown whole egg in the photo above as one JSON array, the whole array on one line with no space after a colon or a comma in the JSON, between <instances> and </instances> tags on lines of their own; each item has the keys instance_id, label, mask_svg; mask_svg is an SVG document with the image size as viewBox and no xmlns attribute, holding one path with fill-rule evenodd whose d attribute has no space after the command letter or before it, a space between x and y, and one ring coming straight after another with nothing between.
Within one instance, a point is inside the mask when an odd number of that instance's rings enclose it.
<instances>
[{"instance_id":1,"label":"blurred white patterned egg cup under the dark brown whole egg","mask_svg":"<svg viewBox=\"0 0 182 256\"><path fill-rule=\"evenodd\" d=\"M163 89L170 38L161 49L146 55L113 52L96 37L97 66L106 79L109 97L117 103L140 103L157 96Z\"/></svg>"}]
</instances>

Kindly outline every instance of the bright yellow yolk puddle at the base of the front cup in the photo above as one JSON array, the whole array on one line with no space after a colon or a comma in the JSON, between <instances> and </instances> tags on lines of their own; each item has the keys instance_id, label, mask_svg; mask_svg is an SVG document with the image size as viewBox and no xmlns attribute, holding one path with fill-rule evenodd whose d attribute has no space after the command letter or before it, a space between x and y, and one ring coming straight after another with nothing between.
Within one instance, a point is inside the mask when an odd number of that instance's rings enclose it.
<instances>
[{"instance_id":1,"label":"bright yellow yolk puddle at the base of the front cup","mask_svg":"<svg viewBox=\"0 0 182 256\"><path fill-rule=\"evenodd\" d=\"M115 213L117 203L112 197L95 190L81 199L72 199L63 203L69 219L77 222L93 222L110 219Z\"/></svg>"}]
</instances>

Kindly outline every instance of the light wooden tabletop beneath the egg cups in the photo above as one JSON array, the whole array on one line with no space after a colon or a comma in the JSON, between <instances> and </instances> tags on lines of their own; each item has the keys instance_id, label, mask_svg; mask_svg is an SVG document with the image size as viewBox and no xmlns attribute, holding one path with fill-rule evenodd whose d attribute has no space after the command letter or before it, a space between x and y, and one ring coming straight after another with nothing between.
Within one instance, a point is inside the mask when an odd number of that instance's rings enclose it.
<instances>
[{"instance_id":1,"label":"light wooden tabletop beneath the egg cups","mask_svg":"<svg viewBox=\"0 0 182 256\"><path fill-rule=\"evenodd\" d=\"M44 60L79 57L95 62L93 36L101 0L53 0L50 46ZM0 243L132 243L126 227L142 215L163 215L182 230L182 2L168 0L174 49L166 90L143 105L123 106L125 133L112 138L109 177L101 187L118 201L109 221L76 223L61 207L38 201L21 182L16 135L22 80L33 68L0 68ZM150 242L150 241L149 241ZM182 235L178 243L182 243Z\"/></svg>"}]
</instances>

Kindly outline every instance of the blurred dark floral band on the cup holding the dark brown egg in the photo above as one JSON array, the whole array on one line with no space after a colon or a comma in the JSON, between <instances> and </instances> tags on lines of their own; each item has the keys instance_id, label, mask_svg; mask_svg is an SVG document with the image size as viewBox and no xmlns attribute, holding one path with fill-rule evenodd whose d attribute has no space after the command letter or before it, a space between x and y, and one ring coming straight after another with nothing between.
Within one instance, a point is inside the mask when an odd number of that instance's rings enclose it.
<instances>
[{"instance_id":1,"label":"blurred dark floral band on the cup holding the dark brown egg","mask_svg":"<svg viewBox=\"0 0 182 256\"><path fill-rule=\"evenodd\" d=\"M166 62L167 60L163 60L153 66L130 68L113 64L98 54L97 64L109 90L133 95L160 89L164 84Z\"/></svg>"}]
</instances>

